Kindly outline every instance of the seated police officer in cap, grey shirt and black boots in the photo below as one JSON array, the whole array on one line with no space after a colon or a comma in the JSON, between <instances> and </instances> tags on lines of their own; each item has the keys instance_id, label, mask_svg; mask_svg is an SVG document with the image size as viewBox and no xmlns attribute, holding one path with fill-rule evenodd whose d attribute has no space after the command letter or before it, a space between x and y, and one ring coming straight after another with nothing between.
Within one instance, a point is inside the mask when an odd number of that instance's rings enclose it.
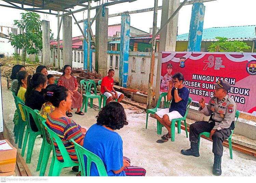
<instances>
[{"instance_id":1,"label":"seated police officer in cap, grey shirt and black boots","mask_svg":"<svg viewBox=\"0 0 256 183\"><path fill-rule=\"evenodd\" d=\"M214 97L211 98L207 106L205 99L199 100L199 111L206 116L211 116L209 122L200 121L191 124L189 127L190 149L181 150L184 155L193 155L199 157L198 137L202 132L210 132L210 139L213 140L212 152L214 153L213 174L221 175L221 159L223 154L223 141L228 139L231 130L234 129L234 118L237 111L237 105L232 98L228 96L230 84L227 81L220 80L215 83Z\"/></svg>"}]
</instances>

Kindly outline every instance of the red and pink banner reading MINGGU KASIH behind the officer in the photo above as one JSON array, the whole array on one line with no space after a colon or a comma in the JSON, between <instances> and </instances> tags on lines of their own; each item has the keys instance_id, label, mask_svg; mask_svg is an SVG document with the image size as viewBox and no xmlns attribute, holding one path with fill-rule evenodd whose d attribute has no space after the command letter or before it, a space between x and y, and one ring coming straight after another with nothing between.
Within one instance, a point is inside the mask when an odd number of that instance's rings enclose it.
<instances>
[{"instance_id":1,"label":"red and pink banner reading MINGGU KASIH behind the officer","mask_svg":"<svg viewBox=\"0 0 256 183\"><path fill-rule=\"evenodd\" d=\"M238 110L256 116L256 53L163 52L161 81L168 75L169 63L171 75L184 75L183 85L189 89L193 102L202 97L208 102L213 97L213 84L226 80L231 84L228 95Z\"/></svg>"}]
</instances>

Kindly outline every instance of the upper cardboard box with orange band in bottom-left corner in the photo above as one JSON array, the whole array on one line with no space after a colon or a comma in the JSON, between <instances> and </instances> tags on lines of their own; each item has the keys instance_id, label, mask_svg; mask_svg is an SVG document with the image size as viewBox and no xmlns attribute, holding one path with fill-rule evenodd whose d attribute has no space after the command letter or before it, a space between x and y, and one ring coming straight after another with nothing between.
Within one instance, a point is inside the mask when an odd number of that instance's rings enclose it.
<instances>
[{"instance_id":1,"label":"upper cardboard box with orange band in bottom-left corner","mask_svg":"<svg viewBox=\"0 0 256 183\"><path fill-rule=\"evenodd\" d=\"M6 143L5 143L6 142ZM4 146L10 147L4 150ZM0 172L15 171L17 149L6 139L0 140Z\"/></svg>"}]
</instances>

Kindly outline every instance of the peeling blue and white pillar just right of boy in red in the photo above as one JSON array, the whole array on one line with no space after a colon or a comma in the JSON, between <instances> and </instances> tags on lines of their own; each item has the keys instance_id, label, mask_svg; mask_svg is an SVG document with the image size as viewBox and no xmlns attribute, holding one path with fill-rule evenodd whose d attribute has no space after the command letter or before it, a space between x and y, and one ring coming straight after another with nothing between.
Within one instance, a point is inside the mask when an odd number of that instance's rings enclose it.
<instances>
[{"instance_id":1,"label":"peeling blue and white pillar just right of boy in red","mask_svg":"<svg viewBox=\"0 0 256 183\"><path fill-rule=\"evenodd\" d=\"M130 15L121 16L121 40L119 62L119 86L127 87L129 47L130 47Z\"/></svg>"}]
</instances>

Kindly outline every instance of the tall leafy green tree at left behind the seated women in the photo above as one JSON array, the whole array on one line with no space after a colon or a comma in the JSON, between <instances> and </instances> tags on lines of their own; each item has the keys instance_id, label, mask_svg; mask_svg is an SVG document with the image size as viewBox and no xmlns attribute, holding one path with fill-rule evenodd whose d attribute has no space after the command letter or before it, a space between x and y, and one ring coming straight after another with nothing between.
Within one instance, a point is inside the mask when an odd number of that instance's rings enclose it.
<instances>
[{"instance_id":1,"label":"tall leafy green tree at left behind the seated women","mask_svg":"<svg viewBox=\"0 0 256 183\"><path fill-rule=\"evenodd\" d=\"M10 33L9 42L19 50L23 49L22 61L25 65L26 53L38 54L43 48L42 21L40 15L34 12L21 13L21 15L21 20L14 20L14 25L17 25L20 34Z\"/></svg>"}]
</instances>

